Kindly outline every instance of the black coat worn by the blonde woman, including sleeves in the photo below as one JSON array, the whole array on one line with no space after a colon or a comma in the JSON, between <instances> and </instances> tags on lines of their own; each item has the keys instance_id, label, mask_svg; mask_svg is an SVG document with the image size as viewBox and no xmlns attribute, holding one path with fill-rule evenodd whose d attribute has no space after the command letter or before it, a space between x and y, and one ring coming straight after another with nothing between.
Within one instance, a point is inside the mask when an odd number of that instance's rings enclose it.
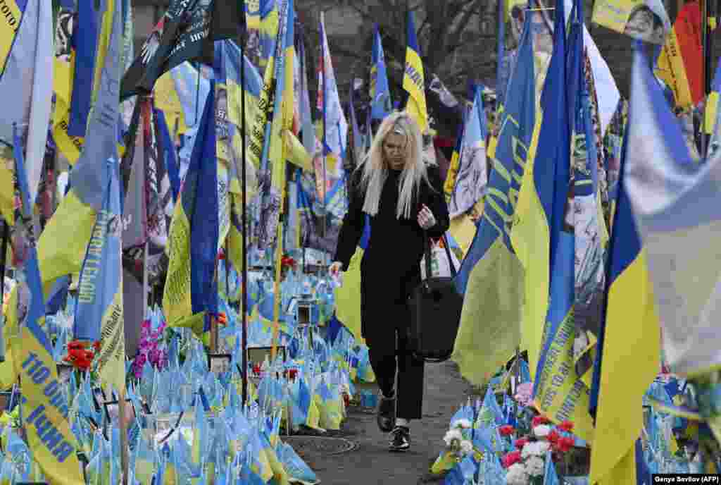
<instances>
[{"instance_id":1,"label":"black coat worn by the blonde woman, including sleeves","mask_svg":"<svg viewBox=\"0 0 721 485\"><path fill-rule=\"evenodd\" d=\"M370 217L371 237L361 262L361 325L362 333L374 325L381 325L391 313L392 307L406 305L407 297L420 284L420 260L425 251L425 235L417 222L418 211L428 206L436 224L428 230L428 236L441 237L448 230L450 219L443 194L443 183L437 167L428 168L428 183L421 183L414 194L415 207L410 219L397 219L396 207L399 196L400 171L389 170L381 193L378 214ZM359 187L361 170L356 170L350 183L348 213L345 214L338 236L334 261L348 270L350 258L363 235L366 214L363 212L365 193Z\"/></svg>"}]
</instances>

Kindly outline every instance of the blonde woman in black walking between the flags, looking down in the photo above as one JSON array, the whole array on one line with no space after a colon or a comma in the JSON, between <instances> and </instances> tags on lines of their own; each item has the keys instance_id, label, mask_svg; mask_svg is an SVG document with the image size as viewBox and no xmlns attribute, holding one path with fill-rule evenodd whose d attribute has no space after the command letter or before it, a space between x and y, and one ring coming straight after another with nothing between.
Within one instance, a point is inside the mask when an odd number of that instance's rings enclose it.
<instances>
[{"instance_id":1,"label":"blonde woman in black walking between the flags, looking down","mask_svg":"<svg viewBox=\"0 0 721 485\"><path fill-rule=\"evenodd\" d=\"M391 432L392 451L410 447L409 422L420 419L423 407L423 361L407 351L407 299L420 284L426 238L441 237L449 225L438 167L427 166L422 154L423 139L407 113L392 113L381 123L351 179L348 214L329 268L333 275L348 270L368 219L361 333L381 390L378 425Z\"/></svg>"}]
</instances>

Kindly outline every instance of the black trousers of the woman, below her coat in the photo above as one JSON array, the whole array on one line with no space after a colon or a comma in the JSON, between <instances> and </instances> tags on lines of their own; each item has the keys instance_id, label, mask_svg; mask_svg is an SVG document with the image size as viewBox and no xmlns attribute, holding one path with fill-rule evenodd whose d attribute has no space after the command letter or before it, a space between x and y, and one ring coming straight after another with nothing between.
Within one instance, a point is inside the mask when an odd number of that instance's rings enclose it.
<instances>
[{"instance_id":1,"label":"black trousers of the woman, below her coat","mask_svg":"<svg viewBox=\"0 0 721 485\"><path fill-rule=\"evenodd\" d=\"M377 310L381 309L377 308L373 313L380 316L381 312ZM405 303L399 302L384 305L383 310L382 320L378 318L363 325L366 329L364 338L371 367L385 396L395 388L396 416L402 419L421 419L424 362L415 359L408 351L410 311Z\"/></svg>"}]
</instances>

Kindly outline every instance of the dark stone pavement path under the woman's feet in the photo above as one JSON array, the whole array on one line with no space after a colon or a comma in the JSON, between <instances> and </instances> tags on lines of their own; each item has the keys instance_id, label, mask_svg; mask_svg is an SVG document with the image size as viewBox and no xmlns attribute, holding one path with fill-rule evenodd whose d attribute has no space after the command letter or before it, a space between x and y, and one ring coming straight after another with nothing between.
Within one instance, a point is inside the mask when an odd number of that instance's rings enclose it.
<instances>
[{"instance_id":1,"label":"dark stone pavement path under the woman's feet","mask_svg":"<svg viewBox=\"0 0 721 485\"><path fill-rule=\"evenodd\" d=\"M388 437L379 431L375 414L350 407L340 432L329 432L328 436L357 443L355 450L337 455L299 454L322 485L441 483L428 469L443 447L451 416L471 394L472 388L461 379L453 362L426 364L424 419L411 422L410 450L389 453Z\"/></svg>"}]
</instances>

